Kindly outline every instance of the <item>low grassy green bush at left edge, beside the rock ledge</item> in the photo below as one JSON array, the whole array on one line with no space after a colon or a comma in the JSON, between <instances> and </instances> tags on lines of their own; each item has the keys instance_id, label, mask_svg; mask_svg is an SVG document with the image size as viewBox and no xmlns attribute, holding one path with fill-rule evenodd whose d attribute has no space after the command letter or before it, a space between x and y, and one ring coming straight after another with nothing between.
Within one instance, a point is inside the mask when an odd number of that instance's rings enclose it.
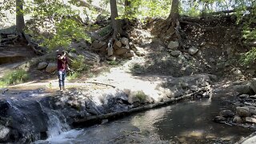
<instances>
[{"instance_id":1,"label":"low grassy green bush at left edge, beside the rock ledge","mask_svg":"<svg viewBox=\"0 0 256 144\"><path fill-rule=\"evenodd\" d=\"M0 86L22 83L28 78L29 76L25 70L14 70L2 78L2 81L0 81Z\"/></svg>"}]
</instances>

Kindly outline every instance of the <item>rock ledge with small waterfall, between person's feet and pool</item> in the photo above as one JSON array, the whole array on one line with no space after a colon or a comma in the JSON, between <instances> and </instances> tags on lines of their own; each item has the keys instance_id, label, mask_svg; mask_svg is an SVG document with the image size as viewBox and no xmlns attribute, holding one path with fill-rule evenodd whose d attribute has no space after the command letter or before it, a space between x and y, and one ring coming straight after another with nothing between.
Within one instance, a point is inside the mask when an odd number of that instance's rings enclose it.
<instances>
[{"instance_id":1,"label":"rock ledge with small waterfall, between person's feet and pool","mask_svg":"<svg viewBox=\"0 0 256 144\"><path fill-rule=\"evenodd\" d=\"M2 89L0 142L34 142L75 127L108 122L120 116L178 102L209 98L214 75L161 77L145 90L111 86L72 88L64 93Z\"/></svg>"}]
</instances>

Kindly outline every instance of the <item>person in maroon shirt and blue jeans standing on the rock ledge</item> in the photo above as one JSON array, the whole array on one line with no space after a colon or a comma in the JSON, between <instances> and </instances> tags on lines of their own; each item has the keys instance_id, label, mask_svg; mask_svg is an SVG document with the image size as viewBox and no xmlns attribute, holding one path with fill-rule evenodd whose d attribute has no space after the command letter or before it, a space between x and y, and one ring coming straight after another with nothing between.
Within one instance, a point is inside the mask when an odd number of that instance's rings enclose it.
<instances>
[{"instance_id":1,"label":"person in maroon shirt and blue jeans standing on the rock ledge","mask_svg":"<svg viewBox=\"0 0 256 144\"><path fill-rule=\"evenodd\" d=\"M67 57L66 57L66 51L62 50L62 52L58 51L57 54L58 57L58 86L60 91L66 90L65 89L65 78L66 78L66 70L69 70Z\"/></svg>"}]
</instances>

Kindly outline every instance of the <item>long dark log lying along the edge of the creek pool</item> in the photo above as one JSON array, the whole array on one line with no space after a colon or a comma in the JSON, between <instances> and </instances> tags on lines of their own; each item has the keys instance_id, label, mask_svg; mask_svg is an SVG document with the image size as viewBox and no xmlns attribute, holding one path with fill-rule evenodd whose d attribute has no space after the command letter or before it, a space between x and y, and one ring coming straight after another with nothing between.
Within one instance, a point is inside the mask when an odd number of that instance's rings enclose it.
<instances>
[{"instance_id":1,"label":"long dark log lying along the edge of the creek pool","mask_svg":"<svg viewBox=\"0 0 256 144\"><path fill-rule=\"evenodd\" d=\"M191 94L186 94L182 97L178 97L178 98L170 98L169 100L167 100L166 102L158 102L158 103L154 103L154 104L147 104L144 106L138 106L135 108L132 108L130 110L127 111L120 111L120 112L113 112L113 113L109 113L109 114L101 114L101 115L94 115L94 116L90 116L90 117L86 117L86 118L76 118L74 119L73 122L73 126L78 127L78 126L91 126L94 125L96 123L100 123L102 122L103 119L116 119L116 118L122 118L123 116L127 116L129 114L133 114L139 111L143 111L143 110L149 110L158 106L165 106L167 104L170 103L175 103L175 102L180 102L182 100L185 100L187 98L192 98L194 96L194 94L198 94L202 91L206 91L206 87L197 90Z\"/></svg>"}]
</instances>

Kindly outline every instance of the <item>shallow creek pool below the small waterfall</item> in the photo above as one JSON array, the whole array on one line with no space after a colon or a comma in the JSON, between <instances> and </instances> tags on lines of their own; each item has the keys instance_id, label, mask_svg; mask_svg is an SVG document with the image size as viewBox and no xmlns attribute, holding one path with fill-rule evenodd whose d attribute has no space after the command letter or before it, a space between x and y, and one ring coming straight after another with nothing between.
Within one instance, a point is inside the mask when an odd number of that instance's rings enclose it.
<instances>
[{"instance_id":1,"label":"shallow creek pool below the small waterfall","mask_svg":"<svg viewBox=\"0 0 256 144\"><path fill-rule=\"evenodd\" d=\"M220 100L177 103L36 143L234 143L250 130L213 122Z\"/></svg>"}]
</instances>

